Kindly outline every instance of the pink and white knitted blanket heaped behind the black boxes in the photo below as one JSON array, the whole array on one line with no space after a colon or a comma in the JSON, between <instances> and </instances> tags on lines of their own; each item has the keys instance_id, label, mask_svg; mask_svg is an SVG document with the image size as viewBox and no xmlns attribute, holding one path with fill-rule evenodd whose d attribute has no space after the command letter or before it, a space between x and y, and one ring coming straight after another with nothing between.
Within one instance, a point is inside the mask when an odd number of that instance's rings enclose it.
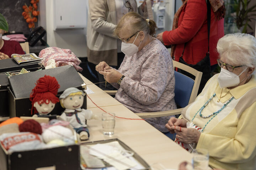
<instances>
[{"instance_id":1,"label":"pink and white knitted blanket heaped behind the black boxes","mask_svg":"<svg viewBox=\"0 0 256 170\"><path fill-rule=\"evenodd\" d=\"M75 56L75 54L70 49L60 49L58 47L48 47L43 49L39 53L39 57L43 58L43 66L48 66L48 61L51 59L55 60L56 67L65 66L72 64L77 71L82 71L83 69L79 67L81 60Z\"/></svg>"}]
</instances>

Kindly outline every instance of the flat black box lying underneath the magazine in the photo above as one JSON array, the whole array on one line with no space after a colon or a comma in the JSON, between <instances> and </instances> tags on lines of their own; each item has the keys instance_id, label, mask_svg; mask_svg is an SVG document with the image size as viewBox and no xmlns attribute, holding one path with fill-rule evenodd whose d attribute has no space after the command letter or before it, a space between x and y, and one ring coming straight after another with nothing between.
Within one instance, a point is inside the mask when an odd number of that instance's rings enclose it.
<instances>
[{"instance_id":1,"label":"flat black box lying underneath the magazine","mask_svg":"<svg viewBox=\"0 0 256 170\"><path fill-rule=\"evenodd\" d=\"M30 63L30 64L24 64L20 66L12 58L0 60L0 73L20 72L22 68L25 68L28 71L36 71L42 68L42 63L39 61L38 63Z\"/></svg>"}]
</instances>

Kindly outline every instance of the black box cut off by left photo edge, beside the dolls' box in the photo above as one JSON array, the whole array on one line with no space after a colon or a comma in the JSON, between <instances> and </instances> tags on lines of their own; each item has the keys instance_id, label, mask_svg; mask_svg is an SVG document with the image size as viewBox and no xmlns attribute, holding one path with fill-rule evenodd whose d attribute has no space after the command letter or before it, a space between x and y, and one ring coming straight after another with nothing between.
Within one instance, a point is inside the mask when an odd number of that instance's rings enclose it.
<instances>
[{"instance_id":1,"label":"black box cut off by left photo edge, beside the dolls' box","mask_svg":"<svg viewBox=\"0 0 256 170\"><path fill-rule=\"evenodd\" d=\"M7 100L8 86L8 76L6 74L0 74L0 118L9 117L9 108Z\"/></svg>"}]
</instances>

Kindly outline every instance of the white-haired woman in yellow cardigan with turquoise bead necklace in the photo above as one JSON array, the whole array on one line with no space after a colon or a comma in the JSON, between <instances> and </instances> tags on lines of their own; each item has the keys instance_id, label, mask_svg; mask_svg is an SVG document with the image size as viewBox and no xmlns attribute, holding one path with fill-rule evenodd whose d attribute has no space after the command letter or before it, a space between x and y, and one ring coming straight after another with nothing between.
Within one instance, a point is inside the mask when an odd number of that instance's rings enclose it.
<instances>
[{"instance_id":1,"label":"white-haired woman in yellow cardigan with turquoise bead necklace","mask_svg":"<svg viewBox=\"0 0 256 170\"><path fill-rule=\"evenodd\" d=\"M166 128L188 151L208 149L214 168L256 169L256 39L228 34L217 50L220 73Z\"/></svg>"}]
</instances>

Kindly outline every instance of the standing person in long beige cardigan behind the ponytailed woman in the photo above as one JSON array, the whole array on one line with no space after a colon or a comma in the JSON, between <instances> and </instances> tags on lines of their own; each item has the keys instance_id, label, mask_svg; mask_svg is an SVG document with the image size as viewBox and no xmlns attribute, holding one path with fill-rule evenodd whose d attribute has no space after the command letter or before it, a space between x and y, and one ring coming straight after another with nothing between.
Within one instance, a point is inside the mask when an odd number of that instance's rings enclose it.
<instances>
[{"instance_id":1,"label":"standing person in long beige cardigan behind the ponytailed woman","mask_svg":"<svg viewBox=\"0 0 256 170\"><path fill-rule=\"evenodd\" d=\"M151 5L153 0L151 0ZM150 7L151 9L151 7ZM96 66L105 61L109 66L118 69L121 65L124 53L121 51L121 43L113 35L117 23L128 12L137 12L147 18L148 10L146 0L137 6L136 0L89 0L89 19L87 23L87 58ZM149 11L149 13L152 11ZM105 81L102 74L98 73L99 82ZM100 84L103 90L114 90L114 87L105 83Z\"/></svg>"}]
</instances>

